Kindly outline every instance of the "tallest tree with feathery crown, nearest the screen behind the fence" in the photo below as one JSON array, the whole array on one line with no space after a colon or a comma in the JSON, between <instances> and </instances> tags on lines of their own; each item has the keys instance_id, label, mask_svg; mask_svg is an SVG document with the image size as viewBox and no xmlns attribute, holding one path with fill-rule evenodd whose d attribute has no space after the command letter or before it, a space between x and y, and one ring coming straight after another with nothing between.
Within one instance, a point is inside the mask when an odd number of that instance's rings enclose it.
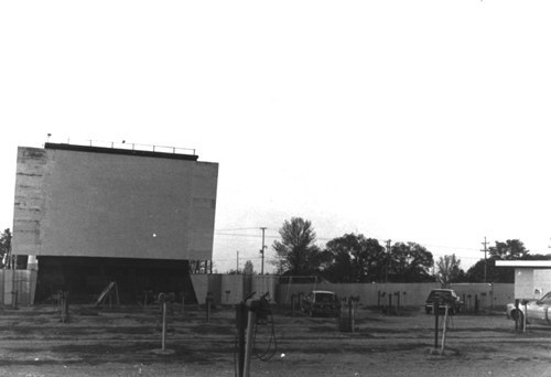
<instances>
[{"instance_id":1,"label":"tallest tree with feathery crown, nearest the screen behind the fence","mask_svg":"<svg viewBox=\"0 0 551 377\"><path fill-rule=\"evenodd\" d=\"M301 217L285 220L279 230L281 241L273 243L278 273L315 274L324 262L324 254L315 245L316 234L312 223Z\"/></svg>"}]
</instances>

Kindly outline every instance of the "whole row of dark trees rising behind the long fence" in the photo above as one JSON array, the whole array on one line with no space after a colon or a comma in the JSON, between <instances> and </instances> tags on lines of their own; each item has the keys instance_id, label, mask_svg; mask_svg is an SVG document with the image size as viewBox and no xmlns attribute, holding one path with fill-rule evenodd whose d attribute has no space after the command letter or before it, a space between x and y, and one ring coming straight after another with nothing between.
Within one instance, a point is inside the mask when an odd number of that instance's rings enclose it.
<instances>
[{"instance_id":1,"label":"whole row of dark trees rising behind the long fence","mask_svg":"<svg viewBox=\"0 0 551 377\"><path fill-rule=\"evenodd\" d=\"M316 245L312 222L302 217L284 220L279 229L281 240L272 248L271 263L278 274L318 276L331 282L515 282L511 267L497 267L496 260L551 260L551 255L530 254L519 239L495 241L467 271L461 268L455 254L437 260L424 246L413 241L395 243L387 247L364 234L344 234ZM249 269L250 270L250 269Z\"/></svg>"}]
</instances>

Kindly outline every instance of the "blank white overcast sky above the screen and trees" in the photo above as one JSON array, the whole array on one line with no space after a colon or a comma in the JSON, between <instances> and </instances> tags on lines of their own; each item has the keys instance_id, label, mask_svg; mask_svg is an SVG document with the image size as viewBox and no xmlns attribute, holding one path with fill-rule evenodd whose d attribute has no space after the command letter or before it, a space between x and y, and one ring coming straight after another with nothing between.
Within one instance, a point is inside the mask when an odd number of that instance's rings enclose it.
<instances>
[{"instance_id":1,"label":"blank white overcast sky above the screen and trees","mask_svg":"<svg viewBox=\"0 0 551 377\"><path fill-rule=\"evenodd\" d=\"M0 227L17 147L195 148L215 269L285 219L454 252L551 245L549 1L2 1ZM272 258L271 247L267 257ZM267 266L267 270L271 267Z\"/></svg>"}]
</instances>

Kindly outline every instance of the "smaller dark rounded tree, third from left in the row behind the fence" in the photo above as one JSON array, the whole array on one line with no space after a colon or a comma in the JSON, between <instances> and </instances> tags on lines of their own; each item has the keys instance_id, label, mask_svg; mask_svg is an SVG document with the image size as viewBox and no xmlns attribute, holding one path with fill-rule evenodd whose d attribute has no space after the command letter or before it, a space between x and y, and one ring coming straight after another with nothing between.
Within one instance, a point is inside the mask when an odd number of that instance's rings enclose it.
<instances>
[{"instance_id":1,"label":"smaller dark rounded tree, third from left in the row behind the fence","mask_svg":"<svg viewBox=\"0 0 551 377\"><path fill-rule=\"evenodd\" d=\"M396 243L390 248L389 280L393 282L433 281L432 252L415 243Z\"/></svg>"}]
</instances>

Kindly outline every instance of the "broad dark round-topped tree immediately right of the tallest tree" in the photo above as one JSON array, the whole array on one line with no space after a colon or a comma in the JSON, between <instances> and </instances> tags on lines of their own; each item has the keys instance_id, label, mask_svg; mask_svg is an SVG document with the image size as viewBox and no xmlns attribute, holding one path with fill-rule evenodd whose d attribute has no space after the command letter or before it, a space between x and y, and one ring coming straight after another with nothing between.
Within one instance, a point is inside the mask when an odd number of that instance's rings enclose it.
<instances>
[{"instance_id":1,"label":"broad dark round-topped tree immediately right of the tallest tree","mask_svg":"<svg viewBox=\"0 0 551 377\"><path fill-rule=\"evenodd\" d=\"M381 281L385 274L385 248L377 239L346 234L329 240L325 276L335 282Z\"/></svg>"}]
</instances>

